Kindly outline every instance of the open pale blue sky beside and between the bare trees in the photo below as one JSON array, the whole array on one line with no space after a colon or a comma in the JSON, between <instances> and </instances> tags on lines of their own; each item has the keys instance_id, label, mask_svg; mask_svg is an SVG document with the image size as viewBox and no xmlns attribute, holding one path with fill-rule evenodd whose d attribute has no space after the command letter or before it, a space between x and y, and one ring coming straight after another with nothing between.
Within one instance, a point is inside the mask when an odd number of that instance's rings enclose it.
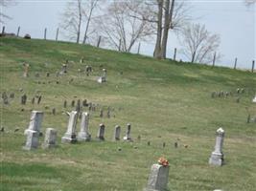
<instances>
[{"instance_id":1,"label":"open pale blue sky beside and between the bare trees","mask_svg":"<svg viewBox=\"0 0 256 191\"><path fill-rule=\"evenodd\" d=\"M1 11L12 17L6 20L6 32L17 32L20 35L30 33L32 38L43 38L47 28L47 38L55 39L60 12L64 10L67 0L16 0L16 5L1 8ZM204 24L206 29L221 36L219 52L221 60L216 65L233 67L238 58L237 67L250 69L256 59L256 5L247 7L243 0L189 0L192 22ZM59 36L64 40L63 36ZM137 46L137 45L136 45ZM141 44L141 53L152 55L154 40ZM186 60L181 53L182 41L175 32L170 32L167 56L173 57L177 48L177 59ZM136 53L137 47L133 52Z\"/></svg>"}]
</instances>

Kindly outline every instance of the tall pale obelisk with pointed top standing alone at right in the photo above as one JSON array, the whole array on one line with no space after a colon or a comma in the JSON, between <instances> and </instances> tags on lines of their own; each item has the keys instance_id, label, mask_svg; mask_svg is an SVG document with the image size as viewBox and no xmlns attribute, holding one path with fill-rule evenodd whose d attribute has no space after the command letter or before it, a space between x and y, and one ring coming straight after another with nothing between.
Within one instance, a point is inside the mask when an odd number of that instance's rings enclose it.
<instances>
[{"instance_id":1,"label":"tall pale obelisk with pointed top standing alone at right","mask_svg":"<svg viewBox=\"0 0 256 191\"><path fill-rule=\"evenodd\" d=\"M224 140L224 130L219 128L216 132L216 143L215 150L209 159L209 164L221 166L223 164L224 156L222 153L223 140Z\"/></svg>"}]
</instances>

